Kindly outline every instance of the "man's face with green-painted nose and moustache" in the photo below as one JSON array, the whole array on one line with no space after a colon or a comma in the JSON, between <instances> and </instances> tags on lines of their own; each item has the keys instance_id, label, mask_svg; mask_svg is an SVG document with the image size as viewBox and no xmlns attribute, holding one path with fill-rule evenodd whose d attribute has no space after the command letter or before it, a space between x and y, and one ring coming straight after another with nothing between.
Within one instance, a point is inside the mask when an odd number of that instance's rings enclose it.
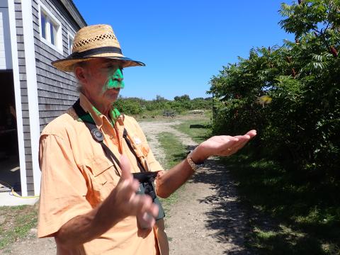
<instances>
[{"instance_id":1,"label":"man's face with green-painted nose and moustache","mask_svg":"<svg viewBox=\"0 0 340 255\"><path fill-rule=\"evenodd\" d=\"M94 105L111 105L124 88L123 72L118 62L94 59L84 67L83 92Z\"/></svg>"}]
</instances>

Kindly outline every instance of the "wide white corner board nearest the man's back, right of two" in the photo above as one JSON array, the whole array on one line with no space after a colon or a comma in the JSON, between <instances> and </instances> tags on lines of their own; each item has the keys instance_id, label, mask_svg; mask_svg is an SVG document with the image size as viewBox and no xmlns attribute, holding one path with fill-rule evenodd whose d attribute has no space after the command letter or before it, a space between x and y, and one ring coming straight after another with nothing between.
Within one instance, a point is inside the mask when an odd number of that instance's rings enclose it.
<instances>
[{"instance_id":1,"label":"wide white corner board nearest the man's back, right of two","mask_svg":"<svg viewBox=\"0 0 340 255\"><path fill-rule=\"evenodd\" d=\"M21 8L23 15L23 40L25 42L24 49L26 61L28 111L30 117L30 146L32 150L34 195L38 196L40 194L40 169L38 164L40 125L37 70L35 67L32 1L21 1Z\"/></svg>"}]
</instances>

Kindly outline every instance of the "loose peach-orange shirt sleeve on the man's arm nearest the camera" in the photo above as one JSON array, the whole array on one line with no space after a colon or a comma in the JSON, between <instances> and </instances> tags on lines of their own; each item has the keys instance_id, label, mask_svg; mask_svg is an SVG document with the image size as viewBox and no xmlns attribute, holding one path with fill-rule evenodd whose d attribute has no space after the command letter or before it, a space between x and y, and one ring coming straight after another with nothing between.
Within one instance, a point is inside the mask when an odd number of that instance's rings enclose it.
<instances>
[{"instance_id":1,"label":"loose peach-orange shirt sleeve on the man's arm nearest the camera","mask_svg":"<svg viewBox=\"0 0 340 255\"><path fill-rule=\"evenodd\" d=\"M68 140L42 135L39 163L42 174L38 237L47 237L92 208L86 200L86 177L74 161Z\"/></svg>"}]
</instances>

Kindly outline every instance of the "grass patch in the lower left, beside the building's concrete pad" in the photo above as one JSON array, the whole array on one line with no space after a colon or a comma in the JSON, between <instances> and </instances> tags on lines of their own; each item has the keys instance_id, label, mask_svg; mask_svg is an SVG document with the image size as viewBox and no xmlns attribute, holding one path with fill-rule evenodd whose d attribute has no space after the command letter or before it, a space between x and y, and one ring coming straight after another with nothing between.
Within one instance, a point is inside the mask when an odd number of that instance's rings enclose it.
<instances>
[{"instance_id":1,"label":"grass patch in the lower left, beside the building's concrete pad","mask_svg":"<svg viewBox=\"0 0 340 255\"><path fill-rule=\"evenodd\" d=\"M0 249L28 236L37 226L37 209L34 205L0 207Z\"/></svg>"}]
</instances>

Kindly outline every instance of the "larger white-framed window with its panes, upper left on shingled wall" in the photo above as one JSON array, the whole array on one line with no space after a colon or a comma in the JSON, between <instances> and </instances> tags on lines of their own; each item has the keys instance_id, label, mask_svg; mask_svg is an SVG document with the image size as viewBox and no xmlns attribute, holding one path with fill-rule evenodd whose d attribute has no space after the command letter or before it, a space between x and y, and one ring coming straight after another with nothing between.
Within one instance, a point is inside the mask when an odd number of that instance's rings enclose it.
<instances>
[{"instance_id":1,"label":"larger white-framed window with its panes, upper left on shingled wall","mask_svg":"<svg viewBox=\"0 0 340 255\"><path fill-rule=\"evenodd\" d=\"M62 54L62 24L39 3L40 40Z\"/></svg>"}]
</instances>

